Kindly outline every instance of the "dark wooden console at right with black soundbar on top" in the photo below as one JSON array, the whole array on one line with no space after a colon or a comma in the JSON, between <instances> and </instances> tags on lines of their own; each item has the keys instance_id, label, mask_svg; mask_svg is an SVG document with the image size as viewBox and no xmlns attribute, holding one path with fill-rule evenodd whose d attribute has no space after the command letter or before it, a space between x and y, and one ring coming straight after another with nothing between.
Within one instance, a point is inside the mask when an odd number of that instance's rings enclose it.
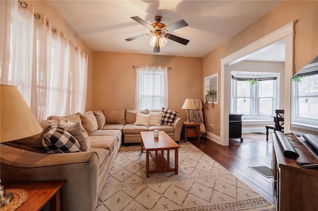
<instances>
[{"instance_id":1,"label":"dark wooden console at right with black soundbar on top","mask_svg":"<svg viewBox=\"0 0 318 211\"><path fill-rule=\"evenodd\" d=\"M279 211L314 211L318 209L318 169L299 167L296 162L317 163L294 135L286 135L299 158L285 158L275 134L273 137L273 189Z\"/></svg>"}]
</instances>

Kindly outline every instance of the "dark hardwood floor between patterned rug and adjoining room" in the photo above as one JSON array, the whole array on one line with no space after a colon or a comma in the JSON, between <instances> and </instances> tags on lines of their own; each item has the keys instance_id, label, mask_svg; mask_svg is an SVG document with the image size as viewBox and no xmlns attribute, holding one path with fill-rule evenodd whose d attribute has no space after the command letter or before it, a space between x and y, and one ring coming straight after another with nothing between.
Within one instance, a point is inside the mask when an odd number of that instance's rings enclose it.
<instances>
[{"instance_id":1,"label":"dark hardwood floor between patterned rug and adjoining room","mask_svg":"<svg viewBox=\"0 0 318 211\"><path fill-rule=\"evenodd\" d=\"M202 137L200 143L195 138L189 138L188 141L274 204L272 178L266 178L250 168L263 165L271 168L272 136L268 136L268 142L266 135L262 133L243 133L242 137L243 142L230 139L229 146L222 146Z\"/></svg>"}]
</instances>

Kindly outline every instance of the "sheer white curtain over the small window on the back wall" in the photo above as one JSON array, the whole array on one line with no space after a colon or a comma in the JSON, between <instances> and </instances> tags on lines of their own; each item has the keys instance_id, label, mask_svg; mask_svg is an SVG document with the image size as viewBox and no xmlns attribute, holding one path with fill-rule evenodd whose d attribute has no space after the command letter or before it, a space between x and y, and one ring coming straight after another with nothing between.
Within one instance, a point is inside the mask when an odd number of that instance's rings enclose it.
<instances>
[{"instance_id":1,"label":"sheer white curtain over the small window on the back wall","mask_svg":"<svg viewBox=\"0 0 318 211\"><path fill-rule=\"evenodd\" d=\"M160 66L137 66L135 109L168 107L168 69Z\"/></svg>"}]
</instances>

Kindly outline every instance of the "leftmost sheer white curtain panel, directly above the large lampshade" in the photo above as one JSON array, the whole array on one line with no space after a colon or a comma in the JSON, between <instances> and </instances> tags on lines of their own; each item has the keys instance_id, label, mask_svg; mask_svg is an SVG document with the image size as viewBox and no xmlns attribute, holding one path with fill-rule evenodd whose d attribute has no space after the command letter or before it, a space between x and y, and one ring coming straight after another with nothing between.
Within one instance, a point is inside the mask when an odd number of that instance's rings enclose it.
<instances>
[{"instance_id":1,"label":"leftmost sheer white curtain panel, directly above the large lampshade","mask_svg":"<svg viewBox=\"0 0 318 211\"><path fill-rule=\"evenodd\" d=\"M15 0L1 0L0 7L1 83L16 85L30 105L33 49L25 47L33 46L34 8Z\"/></svg>"}]
</instances>

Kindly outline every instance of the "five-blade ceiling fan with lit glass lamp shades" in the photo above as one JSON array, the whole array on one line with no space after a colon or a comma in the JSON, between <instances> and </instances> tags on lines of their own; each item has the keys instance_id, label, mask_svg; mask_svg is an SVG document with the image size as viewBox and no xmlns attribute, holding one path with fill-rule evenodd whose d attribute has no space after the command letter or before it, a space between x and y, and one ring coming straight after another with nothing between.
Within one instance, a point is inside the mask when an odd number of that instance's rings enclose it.
<instances>
[{"instance_id":1,"label":"five-blade ceiling fan with lit glass lamp shades","mask_svg":"<svg viewBox=\"0 0 318 211\"><path fill-rule=\"evenodd\" d=\"M131 37L125 40L132 41L132 40L137 40L139 38L143 38L146 36L152 36L152 38L150 39L149 45L154 48L154 53L160 52L160 48L163 48L165 44L167 43L166 39L175 41L177 43L181 43L183 45L187 45L189 43L189 40L186 40L181 37L168 33L169 30L171 31L171 30L175 30L175 29L179 29L179 28L187 26L188 24L183 19L166 26L160 22L162 19L161 16L156 16L155 17L156 22L151 25L138 16L134 16L131 18L137 21L138 23L146 26L148 29L150 29L150 33L139 35L136 37Z\"/></svg>"}]
</instances>

